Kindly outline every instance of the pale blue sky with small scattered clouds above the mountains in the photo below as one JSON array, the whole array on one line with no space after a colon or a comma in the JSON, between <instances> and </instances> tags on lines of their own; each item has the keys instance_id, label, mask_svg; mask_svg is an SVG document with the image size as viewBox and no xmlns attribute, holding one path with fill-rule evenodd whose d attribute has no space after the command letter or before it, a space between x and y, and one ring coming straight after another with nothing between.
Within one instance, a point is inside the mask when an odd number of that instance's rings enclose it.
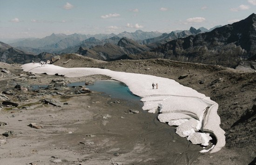
<instances>
[{"instance_id":1,"label":"pale blue sky with small scattered clouds above the mountains","mask_svg":"<svg viewBox=\"0 0 256 165\"><path fill-rule=\"evenodd\" d=\"M256 0L0 0L0 41L52 33L210 29L256 13Z\"/></svg>"}]
</instances>

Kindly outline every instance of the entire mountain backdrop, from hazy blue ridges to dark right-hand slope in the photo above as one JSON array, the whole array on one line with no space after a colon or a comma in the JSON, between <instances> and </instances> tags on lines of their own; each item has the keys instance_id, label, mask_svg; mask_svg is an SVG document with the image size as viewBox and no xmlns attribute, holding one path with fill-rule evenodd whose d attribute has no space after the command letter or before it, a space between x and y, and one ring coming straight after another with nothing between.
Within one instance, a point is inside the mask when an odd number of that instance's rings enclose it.
<instances>
[{"instance_id":1,"label":"entire mountain backdrop, from hazy blue ridges to dark right-hand slope","mask_svg":"<svg viewBox=\"0 0 256 165\"><path fill-rule=\"evenodd\" d=\"M210 30L190 27L189 30L170 33L138 30L118 35L52 34L13 44L0 42L0 61L6 63L47 60L66 53L105 61L165 58L231 68L240 65L256 70L256 14Z\"/></svg>"}]
</instances>

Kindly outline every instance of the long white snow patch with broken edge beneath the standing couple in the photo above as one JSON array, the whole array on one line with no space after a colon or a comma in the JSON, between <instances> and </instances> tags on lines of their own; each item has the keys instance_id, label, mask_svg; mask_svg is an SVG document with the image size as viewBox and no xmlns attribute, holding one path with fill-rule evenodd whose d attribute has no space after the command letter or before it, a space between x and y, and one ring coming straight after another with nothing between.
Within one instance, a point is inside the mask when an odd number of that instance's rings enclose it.
<instances>
[{"instance_id":1,"label":"long white snow patch with broken edge beneath the standing couple","mask_svg":"<svg viewBox=\"0 0 256 165\"><path fill-rule=\"evenodd\" d=\"M211 140L209 136L211 133L217 139L216 146L211 150L211 153L217 152L225 146L225 132L219 126L221 122L217 114L218 104L210 100L209 97L174 80L99 68L63 68L49 64L41 66L40 63L27 63L21 67L24 71L37 74L58 74L66 77L110 76L114 80L125 83L133 94L141 97L141 101L144 102L143 110L148 110L151 113L159 110L161 113L158 116L159 121L169 123L182 119L183 121L177 128L178 134L189 136L188 140L192 141L193 144L207 146ZM158 89L152 89L152 83L158 83ZM184 119L188 121L184 121ZM193 122L190 119L193 119ZM188 127L189 125L190 127ZM195 134L195 131L199 129L207 133Z\"/></svg>"}]
</instances>

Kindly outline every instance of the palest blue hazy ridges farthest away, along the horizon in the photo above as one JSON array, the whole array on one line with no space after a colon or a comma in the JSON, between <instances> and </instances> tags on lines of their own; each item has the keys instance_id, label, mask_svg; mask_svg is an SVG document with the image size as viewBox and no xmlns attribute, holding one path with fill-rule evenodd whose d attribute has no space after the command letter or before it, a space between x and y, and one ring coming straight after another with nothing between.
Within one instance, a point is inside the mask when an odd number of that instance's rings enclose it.
<instances>
[{"instance_id":1,"label":"palest blue hazy ridges farthest away, along the horizon","mask_svg":"<svg viewBox=\"0 0 256 165\"><path fill-rule=\"evenodd\" d=\"M205 31L206 28L201 27ZM52 34L45 38L27 38L18 40L9 45L24 52L31 54L39 54L41 52L48 52L53 54L72 53L79 49L79 47L91 48L96 45L104 45L107 43L117 44L121 38L133 39L139 44L147 44L148 47L155 48L159 44L164 44L170 40L177 38L184 38L191 34L202 32L200 29L191 27L189 30L175 31L171 33L160 32L143 32L137 30L135 32L121 32L117 35L111 34ZM94 41L93 41L94 40Z\"/></svg>"}]
</instances>

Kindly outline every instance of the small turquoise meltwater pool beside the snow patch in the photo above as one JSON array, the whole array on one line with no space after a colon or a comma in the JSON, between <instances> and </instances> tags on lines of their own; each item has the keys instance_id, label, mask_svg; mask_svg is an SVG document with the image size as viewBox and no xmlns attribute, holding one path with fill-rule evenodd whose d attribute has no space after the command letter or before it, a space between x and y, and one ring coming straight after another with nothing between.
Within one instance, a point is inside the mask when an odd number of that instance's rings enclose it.
<instances>
[{"instance_id":1,"label":"small turquoise meltwater pool beside the snow patch","mask_svg":"<svg viewBox=\"0 0 256 165\"><path fill-rule=\"evenodd\" d=\"M84 86L85 82L75 82L67 86ZM94 84L86 85L92 91L103 92L103 95L111 95L112 98L119 98L131 101L139 101L141 97L134 95L124 83L114 80L99 80Z\"/></svg>"}]
</instances>

